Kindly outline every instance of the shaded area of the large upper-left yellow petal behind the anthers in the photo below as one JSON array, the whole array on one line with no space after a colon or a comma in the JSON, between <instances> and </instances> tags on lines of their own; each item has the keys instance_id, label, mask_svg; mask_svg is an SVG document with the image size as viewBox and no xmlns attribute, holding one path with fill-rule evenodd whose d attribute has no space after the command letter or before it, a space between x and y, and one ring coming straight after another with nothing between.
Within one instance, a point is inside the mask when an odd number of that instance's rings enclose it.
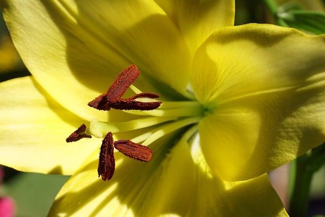
<instances>
[{"instance_id":1,"label":"shaded area of the large upper-left yellow petal behind the anthers","mask_svg":"<svg viewBox=\"0 0 325 217\"><path fill-rule=\"evenodd\" d=\"M161 9L153 3L75 4L43 2L66 38L67 62L81 84L98 92L106 91L122 69L135 64L142 72L135 83L141 90L158 90L162 99L184 99L174 89L186 88L189 50ZM108 12L112 7L116 7L115 12ZM134 9L128 11L127 7ZM145 11L143 15L136 12L137 7ZM106 11L101 14L102 10ZM110 16L105 15L108 13ZM132 15L134 20L128 20Z\"/></svg>"}]
</instances>

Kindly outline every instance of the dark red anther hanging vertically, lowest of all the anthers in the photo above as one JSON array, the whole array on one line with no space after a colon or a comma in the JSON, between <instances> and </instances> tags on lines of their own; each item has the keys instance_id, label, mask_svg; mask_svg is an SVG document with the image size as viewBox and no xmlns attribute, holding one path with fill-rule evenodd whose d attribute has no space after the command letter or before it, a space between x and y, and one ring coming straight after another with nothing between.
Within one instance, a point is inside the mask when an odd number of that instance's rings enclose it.
<instances>
[{"instance_id":1,"label":"dark red anther hanging vertically, lowest of all the anthers","mask_svg":"<svg viewBox=\"0 0 325 217\"><path fill-rule=\"evenodd\" d=\"M104 181L110 180L115 171L114 159L114 142L111 132L106 134L100 152L100 160L98 163L98 177L102 176Z\"/></svg>"}]
</instances>

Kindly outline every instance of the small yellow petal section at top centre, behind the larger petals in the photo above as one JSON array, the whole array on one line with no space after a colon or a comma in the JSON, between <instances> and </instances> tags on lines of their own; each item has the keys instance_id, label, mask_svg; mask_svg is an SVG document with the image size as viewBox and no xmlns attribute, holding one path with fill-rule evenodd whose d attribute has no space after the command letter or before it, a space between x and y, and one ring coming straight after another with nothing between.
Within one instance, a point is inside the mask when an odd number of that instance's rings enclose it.
<instances>
[{"instance_id":1,"label":"small yellow petal section at top centre, behind the larger petals","mask_svg":"<svg viewBox=\"0 0 325 217\"><path fill-rule=\"evenodd\" d=\"M234 0L155 0L182 33L191 53L218 28L234 25Z\"/></svg>"}]
</instances>

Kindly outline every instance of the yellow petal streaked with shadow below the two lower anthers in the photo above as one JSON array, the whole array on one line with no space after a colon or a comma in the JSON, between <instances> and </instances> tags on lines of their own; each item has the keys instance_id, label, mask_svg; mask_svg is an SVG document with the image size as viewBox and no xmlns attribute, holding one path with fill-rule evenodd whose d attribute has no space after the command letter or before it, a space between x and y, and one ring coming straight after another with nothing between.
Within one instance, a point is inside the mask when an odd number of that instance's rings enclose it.
<instances>
[{"instance_id":1,"label":"yellow petal streaked with shadow below the two lower anthers","mask_svg":"<svg viewBox=\"0 0 325 217\"><path fill-rule=\"evenodd\" d=\"M169 152L175 136L153 143L148 163L115 153L116 169L109 181L97 177L95 151L64 184L49 216L184 216L193 197L194 167L184 140Z\"/></svg>"}]
</instances>

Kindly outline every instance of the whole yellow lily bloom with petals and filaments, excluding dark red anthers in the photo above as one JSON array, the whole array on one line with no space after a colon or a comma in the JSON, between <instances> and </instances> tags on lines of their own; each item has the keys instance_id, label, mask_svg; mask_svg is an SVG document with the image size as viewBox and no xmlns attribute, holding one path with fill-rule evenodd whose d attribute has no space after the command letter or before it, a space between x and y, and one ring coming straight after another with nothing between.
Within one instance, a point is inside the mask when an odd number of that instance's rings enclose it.
<instances>
[{"instance_id":1,"label":"whole yellow lily bloom with petals and filaments, excluding dark red anthers","mask_svg":"<svg viewBox=\"0 0 325 217\"><path fill-rule=\"evenodd\" d=\"M325 140L323 36L233 26L230 0L0 2L32 74L0 84L0 163L72 175L49 216L287 216L266 172ZM158 109L87 106L132 64ZM98 178L109 131L152 160Z\"/></svg>"}]
</instances>

